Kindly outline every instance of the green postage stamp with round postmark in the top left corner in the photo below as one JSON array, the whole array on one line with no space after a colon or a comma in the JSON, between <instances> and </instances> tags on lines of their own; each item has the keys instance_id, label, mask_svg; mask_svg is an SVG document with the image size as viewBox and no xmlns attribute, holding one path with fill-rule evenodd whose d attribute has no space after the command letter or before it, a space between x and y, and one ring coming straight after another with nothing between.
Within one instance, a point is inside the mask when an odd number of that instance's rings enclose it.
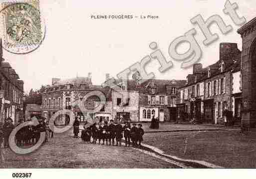
<instances>
[{"instance_id":1,"label":"green postage stamp with round postmark in the top left corner","mask_svg":"<svg viewBox=\"0 0 256 179\"><path fill-rule=\"evenodd\" d=\"M2 46L11 53L26 54L42 43L45 26L40 18L39 2L2 3Z\"/></svg>"}]
</instances>

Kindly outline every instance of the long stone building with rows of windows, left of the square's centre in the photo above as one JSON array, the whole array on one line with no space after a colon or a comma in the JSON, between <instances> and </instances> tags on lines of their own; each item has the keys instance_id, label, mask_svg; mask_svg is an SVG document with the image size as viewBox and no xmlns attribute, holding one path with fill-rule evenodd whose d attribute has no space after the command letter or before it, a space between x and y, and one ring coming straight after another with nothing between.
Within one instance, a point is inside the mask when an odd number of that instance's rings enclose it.
<instances>
[{"instance_id":1,"label":"long stone building with rows of windows, left of the square's centre","mask_svg":"<svg viewBox=\"0 0 256 179\"><path fill-rule=\"evenodd\" d=\"M95 110L100 102L100 95L106 97L106 103L99 110ZM109 88L101 88L92 85L91 74L88 77L76 77L72 79L61 80L52 78L52 84L45 86L42 95L42 112L44 117L49 120L52 115L60 110L70 110L80 121L91 118L102 120L111 118L112 102L111 91ZM57 125L67 125L69 123L69 114L56 116Z\"/></svg>"}]
</instances>

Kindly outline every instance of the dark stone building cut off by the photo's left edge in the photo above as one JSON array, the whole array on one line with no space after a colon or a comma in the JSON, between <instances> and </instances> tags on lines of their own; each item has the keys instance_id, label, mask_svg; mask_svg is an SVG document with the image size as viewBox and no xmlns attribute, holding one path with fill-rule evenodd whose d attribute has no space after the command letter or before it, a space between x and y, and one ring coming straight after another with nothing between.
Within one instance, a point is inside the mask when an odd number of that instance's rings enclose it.
<instances>
[{"instance_id":1,"label":"dark stone building cut off by the photo's left edge","mask_svg":"<svg viewBox=\"0 0 256 179\"><path fill-rule=\"evenodd\" d=\"M10 117L13 124L22 119L23 81L8 62L3 62L0 40L0 122Z\"/></svg>"}]
</instances>

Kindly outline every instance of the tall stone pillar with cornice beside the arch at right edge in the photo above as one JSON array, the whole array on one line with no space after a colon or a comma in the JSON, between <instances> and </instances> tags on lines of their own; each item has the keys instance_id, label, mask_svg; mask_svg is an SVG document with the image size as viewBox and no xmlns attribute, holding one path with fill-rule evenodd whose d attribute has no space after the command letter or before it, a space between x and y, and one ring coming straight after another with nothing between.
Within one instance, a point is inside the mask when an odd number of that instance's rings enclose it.
<instances>
[{"instance_id":1,"label":"tall stone pillar with cornice beside the arch at right edge","mask_svg":"<svg viewBox=\"0 0 256 179\"><path fill-rule=\"evenodd\" d=\"M256 17L238 29L243 40L242 67L242 126L256 126Z\"/></svg>"}]
</instances>

